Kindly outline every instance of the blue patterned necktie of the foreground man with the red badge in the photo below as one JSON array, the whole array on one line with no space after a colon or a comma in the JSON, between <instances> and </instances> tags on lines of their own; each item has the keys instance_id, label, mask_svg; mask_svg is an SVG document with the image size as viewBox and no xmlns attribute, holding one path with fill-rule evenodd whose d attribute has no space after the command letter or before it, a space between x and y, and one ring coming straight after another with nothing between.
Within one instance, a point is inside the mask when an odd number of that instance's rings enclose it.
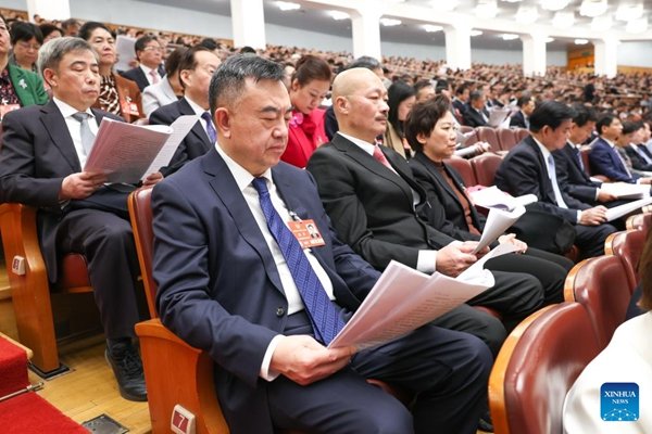
<instances>
[{"instance_id":1,"label":"blue patterned necktie of the foreground man with the red badge","mask_svg":"<svg viewBox=\"0 0 652 434\"><path fill-rule=\"evenodd\" d=\"M301 244L274 208L265 178L255 178L251 183L259 193L267 228L276 240L297 284L301 299L303 299L315 337L328 345L344 326L339 316L340 308L328 298L317 275L315 275L303 253Z\"/></svg>"}]
</instances>

